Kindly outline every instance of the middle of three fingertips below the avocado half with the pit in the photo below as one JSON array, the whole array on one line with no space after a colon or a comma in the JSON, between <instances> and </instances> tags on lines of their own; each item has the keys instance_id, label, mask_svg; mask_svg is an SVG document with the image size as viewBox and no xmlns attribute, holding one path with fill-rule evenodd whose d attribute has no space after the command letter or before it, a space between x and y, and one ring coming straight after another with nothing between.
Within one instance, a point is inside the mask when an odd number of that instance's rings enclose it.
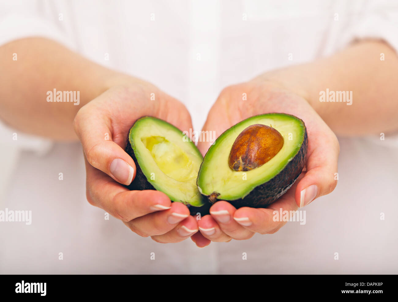
<instances>
[{"instance_id":1,"label":"middle of three fingertips below the avocado half with the pit","mask_svg":"<svg viewBox=\"0 0 398 302\"><path fill-rule=\"evenodd\" d=\"M220 229L233 239L248 239L254 233L238 224L232 217L236 208L229 202L219 201L210 208L210 215L220 226Z\"/></svg>"}]
</instances>

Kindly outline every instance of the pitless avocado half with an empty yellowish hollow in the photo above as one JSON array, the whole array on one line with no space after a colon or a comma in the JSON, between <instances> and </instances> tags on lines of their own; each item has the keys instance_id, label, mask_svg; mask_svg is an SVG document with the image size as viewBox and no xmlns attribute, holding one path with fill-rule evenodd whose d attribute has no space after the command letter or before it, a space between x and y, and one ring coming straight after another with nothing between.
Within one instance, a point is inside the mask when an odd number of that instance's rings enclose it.
<instances>
[{"instance_id":1,"label":"pitless avocado half with an empty yellowish hollow","mask_svg":"<svg viewBox=\"0 0 398 302\"><path fill-rule=\"evenodd\" d=\"M125 150L137 168L131 190L156 189L175 202L204 204L196 185L203 157L178 128L154 117L140 118L130 129Z\"/></svg>"}]
</instances>

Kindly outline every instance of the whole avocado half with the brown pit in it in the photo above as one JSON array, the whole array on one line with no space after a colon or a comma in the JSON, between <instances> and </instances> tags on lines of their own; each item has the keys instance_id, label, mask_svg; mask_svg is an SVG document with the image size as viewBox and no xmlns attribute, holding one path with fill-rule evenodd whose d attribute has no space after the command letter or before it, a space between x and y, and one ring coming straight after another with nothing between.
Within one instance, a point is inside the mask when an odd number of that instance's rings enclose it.
<instances>
[{"instance_id":1,"label":"whole avocado half with the brown pit in it","mask_svg":"<svg viewBox=\"0 0 398 302\"><path fill-rule=\"evenodd\" d=\"M282 113L252 116L222 133L207 151L197 186L211 203L264 208L281 197L306 162L307 131Z\"/></svg>"}]
</instances>

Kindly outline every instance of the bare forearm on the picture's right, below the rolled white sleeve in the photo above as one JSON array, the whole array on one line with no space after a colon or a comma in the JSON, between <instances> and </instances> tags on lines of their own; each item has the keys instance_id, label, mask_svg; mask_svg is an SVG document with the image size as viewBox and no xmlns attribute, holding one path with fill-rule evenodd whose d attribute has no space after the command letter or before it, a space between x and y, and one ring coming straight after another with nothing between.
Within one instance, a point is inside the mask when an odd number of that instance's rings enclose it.
<instances>
[{"instance_id":1,"label":"bare forearm on the picture's right, below the rolled white sleeve","mask_svg":"<svg viewBox=\"0 0 398 302\"><path fill-rule=\"evenodd\" d=\"M380 60L381 53L385 61ZM259 78L295 90L338 135L398 129L398 56L381 41L362 41L332 57L265 73ZM341 94L335 94L335 102L330 102L332 94L339 91L345 91L345 102ZM348 105L351 91L352 104ZM324 100L323 92L326 102L320 101L320 97Z\"/></svg>"}]
</instances>

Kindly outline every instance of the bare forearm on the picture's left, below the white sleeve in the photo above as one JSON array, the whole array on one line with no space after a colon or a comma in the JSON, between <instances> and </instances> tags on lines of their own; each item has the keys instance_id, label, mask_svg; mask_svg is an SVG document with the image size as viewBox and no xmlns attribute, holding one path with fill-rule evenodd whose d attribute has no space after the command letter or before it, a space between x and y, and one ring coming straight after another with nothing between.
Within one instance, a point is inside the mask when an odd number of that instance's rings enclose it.
<instances>
[{"instance_id":1,"label":"bare forearm on the picture's left, below the white sleeve","mask_svg":"<svg viewBox=\"0 0 398 302\"><path fill-rule=\"evenodd\" d=\"M72 122L84 104L128 78L43 38L3 45L0 60L0 118L17 130L60 141L77 139ZM63 102L57 102L54 89L76 92L79 100L65 102L62 94Z\"/></svg>"}]
</instances>

